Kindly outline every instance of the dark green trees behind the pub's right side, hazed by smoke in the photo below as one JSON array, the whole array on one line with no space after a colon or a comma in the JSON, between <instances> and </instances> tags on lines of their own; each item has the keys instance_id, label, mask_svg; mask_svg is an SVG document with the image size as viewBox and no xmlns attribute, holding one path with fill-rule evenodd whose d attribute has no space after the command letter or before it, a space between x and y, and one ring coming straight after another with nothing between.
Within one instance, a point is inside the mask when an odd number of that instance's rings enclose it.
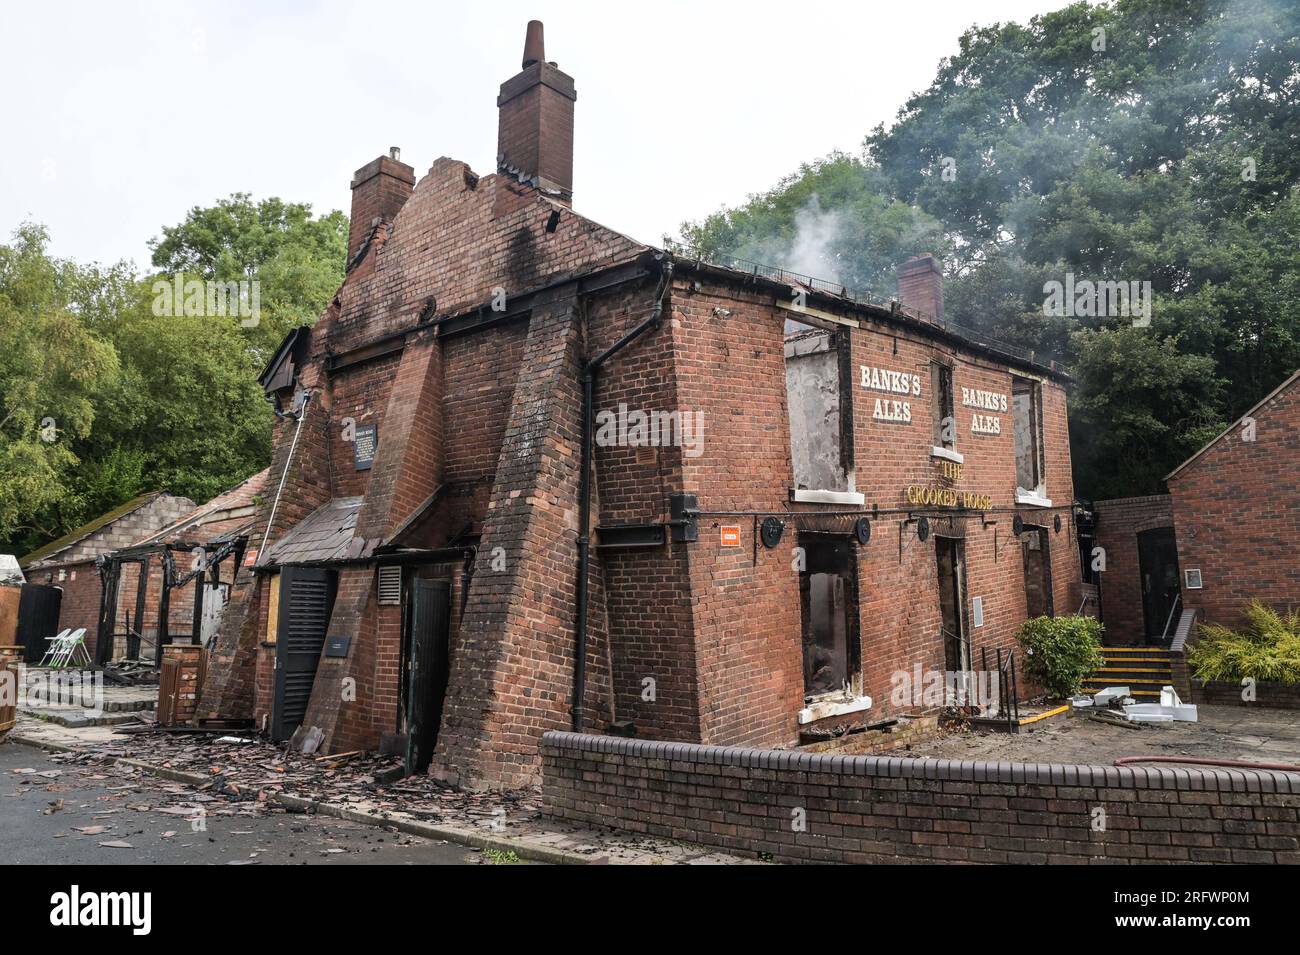
<instances>
[{"instance_id":1,"label":"dark green trees behind the pub's right side, hazed by smoke","mask_svg":"<svg viewBox=\"0 0 1300 955\"><path fill-rule=\"evenodd\" d=\"M823 261L884 294L910 255L942 256L950 318L1072 368L1078 492L1153 492L1300 365L1297 107L1300 5L1075 3L967 30L861 157L682 235L789 256L801 216L842 214ZM1150 326L1044 314L1066 273L1149 282Z\"/></svg>"}]
</instances>

